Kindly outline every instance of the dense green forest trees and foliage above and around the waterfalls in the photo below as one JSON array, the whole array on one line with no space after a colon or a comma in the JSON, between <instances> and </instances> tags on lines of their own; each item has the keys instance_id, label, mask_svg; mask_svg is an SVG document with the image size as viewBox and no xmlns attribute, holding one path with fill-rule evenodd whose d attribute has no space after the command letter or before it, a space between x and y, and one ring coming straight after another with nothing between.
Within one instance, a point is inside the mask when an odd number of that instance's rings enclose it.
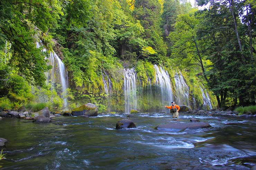
<instances>
[{"instance_id":1,"label":"dense green forest trees and foliage above and around the waterfalls","mask_svg":"<svg viewBox=\"0 0 256 170\"><path fill-rule=\"evenodd\" d=\"M49 52L36 48L42 42L68 70L70 100L101 103L102 70L121 93L124 68L154 79L152 64L159 64L185 72L192 84L200 79L219 107L255 104L255 1L197 3L209 9L177 0L1 0L1 103L35 102L40 91L61 106L45 81L51 66Z\"/></svg>"}]
</instances>

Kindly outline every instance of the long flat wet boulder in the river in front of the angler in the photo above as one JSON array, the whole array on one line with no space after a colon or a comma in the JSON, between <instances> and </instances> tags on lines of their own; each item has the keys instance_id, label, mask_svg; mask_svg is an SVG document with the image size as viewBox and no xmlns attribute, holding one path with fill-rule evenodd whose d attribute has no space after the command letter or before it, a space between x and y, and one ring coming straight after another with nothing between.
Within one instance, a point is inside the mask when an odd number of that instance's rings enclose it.
<instances>
[{"instance_id":1,"label":"long flat wet boulder in the river in front of the angler","mask_svg":"<svg viewBox=\"0 0 256 170\"><path fill-rule=\"evenodd\" d=\"M201 128L209 128L211 125L206 122L171 122L166 124L161 124L155 129L175 129L175 130L185 130L185 129L201 129Z\"/></svg>"}]
</instances>

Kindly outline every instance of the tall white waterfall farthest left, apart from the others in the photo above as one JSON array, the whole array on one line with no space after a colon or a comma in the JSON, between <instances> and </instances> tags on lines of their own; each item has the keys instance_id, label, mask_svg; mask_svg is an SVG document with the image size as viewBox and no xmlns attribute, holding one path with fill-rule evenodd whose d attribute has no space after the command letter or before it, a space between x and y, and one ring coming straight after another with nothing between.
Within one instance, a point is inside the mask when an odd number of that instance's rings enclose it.
<instances>
[{"instance_id":1,"label":"tall white waterfall farthest left, apart from the others","mask_svg":"<svg viewBox=\"0 0 256 170\"><path fill-rule=\"evenodd\" d=\"M39 48L40 46L40 43L36 42L36 47ZM43 48L42 51L46 52L47 50L46 48ZM51 82L53 88L56 88L56 83L61 84L62 98L64 101L63 107L65 108L67 106L66 90L68 80L65 65L54 51L50 51L48 65L52 66L52 69L45 73L47 78L47 84Z\"/></svg>"}]
</instances>

